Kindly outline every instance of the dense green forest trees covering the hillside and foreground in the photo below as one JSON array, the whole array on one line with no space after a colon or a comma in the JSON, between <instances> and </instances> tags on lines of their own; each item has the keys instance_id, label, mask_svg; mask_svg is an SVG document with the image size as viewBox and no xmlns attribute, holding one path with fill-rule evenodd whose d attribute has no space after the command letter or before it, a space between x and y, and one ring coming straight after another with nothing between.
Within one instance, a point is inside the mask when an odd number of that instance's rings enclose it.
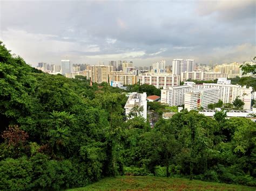
<instances>
[{"instance_id":1,"label":"dense green forest trees covering the hillside and foreground","mask_svg":"<svg viewBox=\"0 0 256 191\"><path fill-rule=\"evenodd\" d=\"M81 187L122 174L255 186L250 119L183 111L151 129L140 116L125 121L122 90L45 74L3 45L0 87L0 189Z\"/></svg>"}]
</instances>

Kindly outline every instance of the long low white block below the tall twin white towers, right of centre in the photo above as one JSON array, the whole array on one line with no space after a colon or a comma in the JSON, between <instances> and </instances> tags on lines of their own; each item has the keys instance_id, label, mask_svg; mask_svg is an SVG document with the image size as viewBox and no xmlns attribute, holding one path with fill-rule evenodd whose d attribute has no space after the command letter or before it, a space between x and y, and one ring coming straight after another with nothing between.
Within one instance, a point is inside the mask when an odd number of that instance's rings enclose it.
<instances>
[{"instance_id":1,"label":"long low white block below the tall twin white towers, right of centre","mask_svg":"<svg viewBox=\"0 0 256 191\"><path fill-rule=\"evenodd\" d=\"M181 72L180 81L184 82L186 80L215 80L220 77L227 77L227 74L203 71Z\"/></svg>"}]
</instances>

